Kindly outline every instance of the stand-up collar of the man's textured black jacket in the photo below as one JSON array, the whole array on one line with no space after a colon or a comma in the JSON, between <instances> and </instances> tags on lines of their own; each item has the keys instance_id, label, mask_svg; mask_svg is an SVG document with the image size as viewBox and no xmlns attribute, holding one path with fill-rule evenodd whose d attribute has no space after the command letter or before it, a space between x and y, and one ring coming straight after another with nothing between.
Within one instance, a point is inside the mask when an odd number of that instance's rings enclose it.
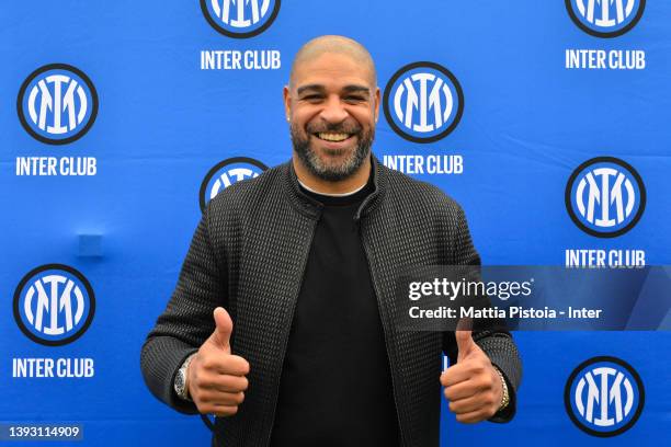
<instances>
[{"instance_id":1,"label":"stand-up collar of the man's textured black jacket","mask_svg":"<svg viewBox=\"0 0 671 447\"><path fill-rule=\"evenodd\" d=\"M373 164L373 169L371 173L373 175L373 191L371 194L364 198L356 215L354 217L355 220L361 219L363 216L366 216L371 213L383 199L386 186L387 186L387 172L386 168L377 160L377 158L371 153L371 162ZM292 205L303 215L310 217L312 219L318 219L321 216L321 209L323 208L323 204L316 200L315 198L308 196L300 190L300 185L298 183L298 176L296 175L296 171L294 170L294 163L289 160L285 163L283 176L285 179L285 187L286 195L292 203Z\"/></svg>"}]
</instances>

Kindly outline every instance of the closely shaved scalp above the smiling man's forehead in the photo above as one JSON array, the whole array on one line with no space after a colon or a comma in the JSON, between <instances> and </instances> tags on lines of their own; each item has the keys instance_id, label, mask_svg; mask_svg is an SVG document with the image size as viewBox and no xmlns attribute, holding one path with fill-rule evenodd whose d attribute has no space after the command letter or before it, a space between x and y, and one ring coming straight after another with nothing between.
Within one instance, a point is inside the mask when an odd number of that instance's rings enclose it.
<instances>
[{"instance_id":1,"label":"closely shaved scalp above the smiling man's forehead","mask_svg":"<svg viewBox=\"0 0 671 447\"><path fill-rule=\"evenodd\" d=\"M369 81L373 88L377 87L377 74L375 72L375 64L368 50L359 42L337 35L319 36L300 47L289 73L289 89L294 89L296 71L304 62L317 59L323 54L344 55L354 60L360 67L365 68L369 73Z\"/></svg>"}]
</instances>

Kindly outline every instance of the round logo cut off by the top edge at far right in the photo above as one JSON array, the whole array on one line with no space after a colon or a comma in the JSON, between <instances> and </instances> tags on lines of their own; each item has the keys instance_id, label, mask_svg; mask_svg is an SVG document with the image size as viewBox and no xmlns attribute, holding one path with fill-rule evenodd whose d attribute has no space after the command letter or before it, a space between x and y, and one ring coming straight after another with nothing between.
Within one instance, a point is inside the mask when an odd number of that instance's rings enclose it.
<instances>
[{"instance_id":1,"label":"round logo cut off by the top edge at far right","mask_svg":"<svg viewBox=\"0 0 671 447\"><path fill-rule=\"evenodd\" d=\"M588 34L616 37L640 20L646 0L566 0L571 20Z\"/></svg>"}]
</instances>

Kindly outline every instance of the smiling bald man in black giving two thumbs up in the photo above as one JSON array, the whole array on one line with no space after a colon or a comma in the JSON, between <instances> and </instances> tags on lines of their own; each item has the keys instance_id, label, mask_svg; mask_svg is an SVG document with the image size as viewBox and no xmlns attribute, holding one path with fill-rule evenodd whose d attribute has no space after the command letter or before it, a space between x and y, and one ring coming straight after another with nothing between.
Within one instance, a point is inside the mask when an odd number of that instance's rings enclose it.
<instances>
[{"instance_id":1,"label":"smiling bald man in black giving two thumbs up","mask_svg":"<svg viewBox=\"0 0 671 447\"><path fill-rule=\"evenodd\" d=\"M217 416L214 445L435 446L441 385L460 422L514 414L508 332L396 329L398 268L479 257L454 200L372 156L379 96L365 48L310 41L284 88L292 160L203 214L141 368Z\"/></svg>"}]
</instances>

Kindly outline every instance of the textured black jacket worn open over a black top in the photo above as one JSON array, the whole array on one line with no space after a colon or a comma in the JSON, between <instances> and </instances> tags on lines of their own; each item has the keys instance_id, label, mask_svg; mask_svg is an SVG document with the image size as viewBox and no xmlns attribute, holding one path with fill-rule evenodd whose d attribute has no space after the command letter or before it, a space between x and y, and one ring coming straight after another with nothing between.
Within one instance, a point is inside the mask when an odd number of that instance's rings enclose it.
<instances>
[{"instance_id":1,"label":"textured black jacket worn open over a black top","mask_svg":"<svg viewBox=\"0 0 671 447\"><path fill-rule=\"evenodd\" d=\"M454 332L397 331L395 272L409 265L478 264L464 211L441 190L393 171L373 157L374 192L355 219L368 260L391 371L402 446L437 446L441 351L455 360ZM147 386L183 413L195 405L173 391L183 360L215 329L223 306L234 321L232 352L251 370L244 402L217 417L214 445L268 446L280 377L320 204L303 194L289 162L236 183L211 200L184 260L177 288L141 349ZM522 375L508 332L474 333L474 340L505 376L514 414ZM346 409L343 409L346 411ZM338 429L338 427L334 427Z\"/></svg>"}]
</instances>

